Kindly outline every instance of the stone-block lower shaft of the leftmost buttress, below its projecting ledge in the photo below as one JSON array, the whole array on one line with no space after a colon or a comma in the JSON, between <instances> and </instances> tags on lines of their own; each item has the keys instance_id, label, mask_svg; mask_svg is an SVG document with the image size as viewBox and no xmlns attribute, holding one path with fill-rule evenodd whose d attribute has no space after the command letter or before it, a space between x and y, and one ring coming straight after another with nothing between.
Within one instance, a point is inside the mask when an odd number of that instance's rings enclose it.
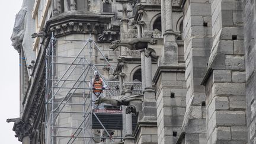
<instances>
[{"instance_id":1,"label":"stone-block lower shaft of the leftmost buttress, below its projecting ledge","mask_svg":"<svg viewBox=\"0 0 256 144\"><path fill-rule=\"evenodd\" d=\"M177 141L185 114L184 71L168 71L162 72L156 82L158 144Z\"/></svg>"}]
</instances>

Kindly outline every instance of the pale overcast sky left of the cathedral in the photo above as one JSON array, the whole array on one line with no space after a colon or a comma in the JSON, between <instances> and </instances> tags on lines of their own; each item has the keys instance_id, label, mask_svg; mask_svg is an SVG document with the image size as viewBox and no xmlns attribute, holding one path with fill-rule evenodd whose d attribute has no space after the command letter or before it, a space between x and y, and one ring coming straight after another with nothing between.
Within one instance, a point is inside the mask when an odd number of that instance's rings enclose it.
<instances>
[{"instance_id":1,"label":"pale overcast sky left of the cathedral","mask_svg":"<svg viewBox=\"0 0 256 144\"><path fill-rule=\"evenodd\" d=\"M0 35L0 139L3 144L21 144L12 131L14 123L7 123L9 118L20 116L20 76L19 56L11 46L11 34L15 15L21 9L23 0L1 1L1 35Z\"/></svg>"}]
</instances>

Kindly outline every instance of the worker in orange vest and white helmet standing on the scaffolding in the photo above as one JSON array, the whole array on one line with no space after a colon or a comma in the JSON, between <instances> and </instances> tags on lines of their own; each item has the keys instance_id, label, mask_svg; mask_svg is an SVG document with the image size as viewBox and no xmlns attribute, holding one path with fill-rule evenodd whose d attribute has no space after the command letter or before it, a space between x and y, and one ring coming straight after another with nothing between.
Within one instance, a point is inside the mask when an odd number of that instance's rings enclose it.
<instances>
[{"instance_id":1,"label":"worker in orange vest and white helmet standing on the scaffolding","mask_svg":"<svg viewBox=\"0 0 256 144\"><path fill-rule=\"evenodd\" d=\"M94 109L97 108L97 105L94 104L95 100L99 97L104 97L103 90L107 87L103 79L100 78L98 71L94 72L94 78L90 82L90 86L92 86L92 108ZM98 105L98 109L104 110L104 104L101 103Z\"/></svg>"}]
</instances>

